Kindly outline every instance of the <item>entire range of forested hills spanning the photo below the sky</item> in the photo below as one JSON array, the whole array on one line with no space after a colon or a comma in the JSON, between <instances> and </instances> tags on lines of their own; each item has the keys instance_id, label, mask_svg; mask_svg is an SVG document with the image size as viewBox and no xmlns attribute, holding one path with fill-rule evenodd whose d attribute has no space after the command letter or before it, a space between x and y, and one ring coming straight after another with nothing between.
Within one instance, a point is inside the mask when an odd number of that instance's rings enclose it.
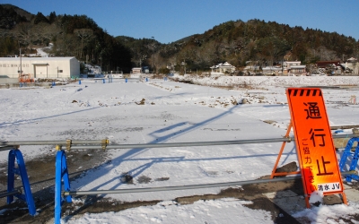
<instances>
[{"instance_id":1,"label":"entire range of forested hills spanning the photo below the sky","mask_svg":"<svg viewBox=\"0 0 359 224\"><path fill-rule=\"evenodd\" d=\"M18 54L19 44L30 52L51 42L54 56L76 56L103 70L119 67L124 72L144 65L167 73L168 65L177 71L183 65L208 70L225 61L241 67L248 61L276 65L285 58L310 64L359 56L359 42L352 37L260 20L223 22L203 34L162 44L155 39L112 37L86 15L33 15L0 4L0 29L0 56Z\"/></svg>"}]
</instances>

